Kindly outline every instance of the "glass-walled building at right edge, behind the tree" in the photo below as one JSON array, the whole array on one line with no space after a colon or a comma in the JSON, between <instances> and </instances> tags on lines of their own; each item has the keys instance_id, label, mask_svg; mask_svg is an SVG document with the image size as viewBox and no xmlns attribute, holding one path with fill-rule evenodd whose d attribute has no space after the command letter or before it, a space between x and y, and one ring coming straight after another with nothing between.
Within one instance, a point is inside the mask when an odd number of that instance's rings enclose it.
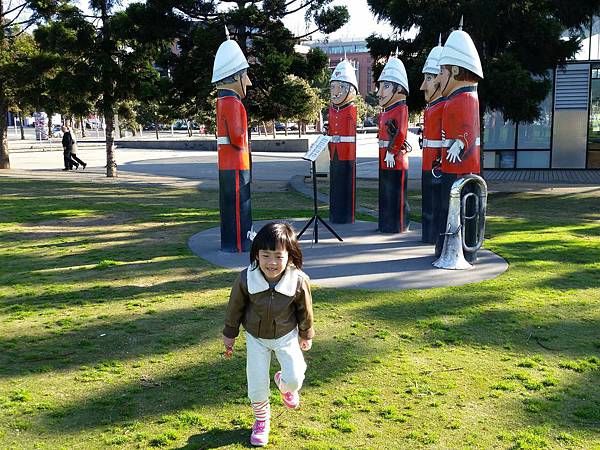
<instances>
[{"instance_id":1,"label":"glass-walled building at right edge, behind the tree","mask_svg":"<svg viewBox=\"0 0 600 450\"><path fill-rule=\"evenodd\" d=\"M484 168L600 169L600 18L582 32L579 53L551 74L538 120L485 114Z\"/></svg>"}]
</instances>

